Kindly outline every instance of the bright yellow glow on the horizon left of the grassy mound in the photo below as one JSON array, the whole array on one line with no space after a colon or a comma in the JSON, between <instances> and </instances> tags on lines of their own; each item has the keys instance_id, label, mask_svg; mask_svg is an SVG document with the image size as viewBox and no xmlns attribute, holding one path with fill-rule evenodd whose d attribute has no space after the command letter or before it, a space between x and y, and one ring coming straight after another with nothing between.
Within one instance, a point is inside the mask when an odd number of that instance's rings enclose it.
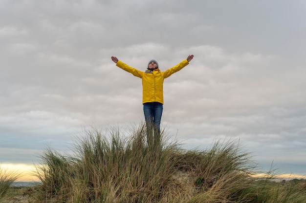
<instances>
[{"instance_id":1,"label":"bright yellow glow on the horizon left of the grassy mound","mask_svg":"<svg viewBox=\"0 0 306 203\"><path fill-rule=\"evenodd\" d=\"M20 182L39 181L38 177L35 176L36 167L34 165L0 164L0 167L8 174L10 173L20 174L16 181Z\"/></svg>"}]
</instances>

